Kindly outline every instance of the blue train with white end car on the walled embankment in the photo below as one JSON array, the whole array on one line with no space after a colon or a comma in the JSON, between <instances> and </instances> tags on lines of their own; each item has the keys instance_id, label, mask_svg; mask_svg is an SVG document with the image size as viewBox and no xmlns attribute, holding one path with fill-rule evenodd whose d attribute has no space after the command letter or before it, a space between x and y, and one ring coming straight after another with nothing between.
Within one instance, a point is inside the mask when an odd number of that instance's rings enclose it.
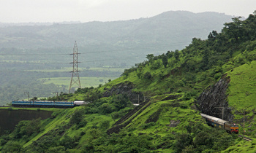
<instances>
[{"instance_id":1,"label":"blue train with white end car on the walled embankment","mask_svg":"<svg viewBox=\"0 0 256 153\"><path fill-rule=\"evenodd\" d=\"M85 105L85 101L12 101L13 107L57 107L70 108Z\"/></svg>"}]
</instances>

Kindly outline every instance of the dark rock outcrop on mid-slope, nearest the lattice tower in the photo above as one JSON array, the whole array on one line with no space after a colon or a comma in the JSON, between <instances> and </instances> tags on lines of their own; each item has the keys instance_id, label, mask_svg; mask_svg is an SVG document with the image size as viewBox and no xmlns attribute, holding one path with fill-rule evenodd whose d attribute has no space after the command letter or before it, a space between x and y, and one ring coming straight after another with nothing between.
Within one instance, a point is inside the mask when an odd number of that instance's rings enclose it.
<instances>
[{"instance_id":1,"label":"dark rock outcrop on mid-slope, nearest the lattice tower","mask_svg":"<svg viewBox=\"0 0 256 153\"><path fill-rule=\"evenodd\" d=\"M132 103L138 103L138 101L144 101L142 93L132 92L135 85L132 82L122 82L118 85L113 86L110 90L106 90L103 93L103 97L109 97L110 95L127 94L129 101Z\"/></svg>"}]
</instances>

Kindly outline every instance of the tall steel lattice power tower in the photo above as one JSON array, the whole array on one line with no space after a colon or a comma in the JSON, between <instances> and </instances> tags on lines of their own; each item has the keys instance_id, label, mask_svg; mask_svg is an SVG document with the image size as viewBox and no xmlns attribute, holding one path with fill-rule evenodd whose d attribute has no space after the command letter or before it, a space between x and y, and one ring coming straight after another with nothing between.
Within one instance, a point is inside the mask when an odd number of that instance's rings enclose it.
<instances>
[{"instance_id":1,"label":"tall steel lattice power tower","mask_svg":"<svg viewBox=\"0 0 256 153\"><path fill-rule=\"evenodd\" d=\"M78 85L78 87L80 88L81 87L81 84L80 84L80 79L79 79L79 71L78 71L78 44L77 42L75 41L75 44L74 44L74 48L73 48L73 53L70 54L70 55L73 55L73 71L72 72L72 76L71 76L71 81L70 81L70 85L69 85L69 93L70 93L70 90L71 90L71 87L72 85Z\"/></svg>"}]
</instances>

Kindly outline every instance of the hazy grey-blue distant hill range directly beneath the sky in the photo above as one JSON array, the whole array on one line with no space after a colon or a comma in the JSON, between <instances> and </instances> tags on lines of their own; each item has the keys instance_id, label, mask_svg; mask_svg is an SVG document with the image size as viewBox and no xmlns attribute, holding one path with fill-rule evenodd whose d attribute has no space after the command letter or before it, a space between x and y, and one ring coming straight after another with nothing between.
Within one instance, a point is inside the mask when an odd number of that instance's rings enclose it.
<instances>
[{"instance_id":1,"label":"hazy grey-blue distant hill range directly beneath the sky","mask_svg":"<svg viewBox=\"0 0 256 153\"><path fill-rule=\"evenodd\" d=\"M0 46L26 49L26 53L70 53L76 40L80 52L96 52L81 55L81 60L105 59L100 64L111 65L113 60L106 58L114 58L118 64L133 65L144 60L148 53L159 55L167 50L180 50L193 37L206 39L209 32L220 31L223 23L230 22L231 18L217 12L170 11L154 17L113 22L5 24L0 26ZM61 51L48 51L53 48Z\"/></svg>"}]
</instances>

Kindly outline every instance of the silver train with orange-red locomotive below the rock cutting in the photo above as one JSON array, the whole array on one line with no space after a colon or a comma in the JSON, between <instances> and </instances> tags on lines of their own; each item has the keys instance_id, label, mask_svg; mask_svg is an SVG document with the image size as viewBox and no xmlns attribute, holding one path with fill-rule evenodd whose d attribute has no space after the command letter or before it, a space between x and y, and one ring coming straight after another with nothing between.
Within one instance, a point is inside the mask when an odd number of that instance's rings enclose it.
<instances>
[{"instance_id":1,"label":"silver train with orange-red locomotive below the rock cutting","mask_svg":"<svg viewBox=\"0 0 256 153\"><path fill-rule=\"evenodd\" d=\"M223 119L219 119L217 117L211 117L210 115L207 114L200 114L202 117L206 118L206 122L208 125L212 127L219 127L222 129L227 130L227 133L238 133L239 132L239 127L238 125L225 121Z\"/></svg>"}]
</instances>

